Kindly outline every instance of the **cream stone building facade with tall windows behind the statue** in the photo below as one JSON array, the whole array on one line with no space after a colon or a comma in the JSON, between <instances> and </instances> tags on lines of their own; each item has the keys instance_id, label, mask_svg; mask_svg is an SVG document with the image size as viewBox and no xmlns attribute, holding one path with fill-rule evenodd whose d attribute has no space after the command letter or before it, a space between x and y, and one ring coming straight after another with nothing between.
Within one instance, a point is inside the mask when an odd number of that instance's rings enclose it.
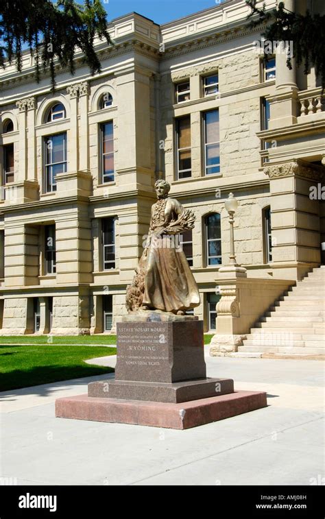
<instances>
[{"instance_id":1,"label":"cream stone building facade with tall windows behind the statue","mask_svg":"<svg viewBox=\"0 0 325 519\"><path fill-rule=\"evenodd\" d=\"M301 12L309 3L287 0ZM248 12L228 0L162 26L122 16L109 25L114 45L97 43L101 73L77 54L54 93L49 75L35 82L29 53L21 73L1 72L1 335L114 329L157 178L197 217L183 246L206 331L230 252L230 192L248 276L296 280L323 263L320 80L289 70L282 48L265 57Z\"/></svg>"}]
</instances>

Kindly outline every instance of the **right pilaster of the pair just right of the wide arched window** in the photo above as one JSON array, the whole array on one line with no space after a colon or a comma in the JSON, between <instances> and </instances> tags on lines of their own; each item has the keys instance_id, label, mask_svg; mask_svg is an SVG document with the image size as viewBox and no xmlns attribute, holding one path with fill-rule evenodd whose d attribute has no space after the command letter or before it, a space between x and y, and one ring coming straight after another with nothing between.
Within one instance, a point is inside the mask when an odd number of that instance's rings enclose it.
<instances>
[{"instance_id":1,"label":"right pilaster of the pair just right of the wide arched window","mask_svg":"<svg viewBox=\"0 0 325 519\"><path fill-rule=\"evenodd\" d=\"M89 124L88 124L88 96L89 85L87 82L79 85L79 169L80 171L89 170Z\"/></svg>"}]
</instances>

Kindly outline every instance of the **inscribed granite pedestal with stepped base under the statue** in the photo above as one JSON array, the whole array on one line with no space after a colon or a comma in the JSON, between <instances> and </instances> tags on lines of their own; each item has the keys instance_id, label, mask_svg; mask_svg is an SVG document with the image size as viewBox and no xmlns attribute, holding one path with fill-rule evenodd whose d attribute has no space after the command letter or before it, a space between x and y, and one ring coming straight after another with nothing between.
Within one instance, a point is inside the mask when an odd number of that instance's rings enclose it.
<instances>
[{"instance_id":1,"label":"inscribed granite pedestal with stepped base under the statue","mask_svg":"<svg viewBox=\"0 0 325 519\"><path fill-rule=\"evenodd\" d=\"M56 400L56 416L187 429L267 405L265 393L234 392L232 379L206 377L202 321L132 317L117 324L115 380Z\"/></svg>"}]
</instances>

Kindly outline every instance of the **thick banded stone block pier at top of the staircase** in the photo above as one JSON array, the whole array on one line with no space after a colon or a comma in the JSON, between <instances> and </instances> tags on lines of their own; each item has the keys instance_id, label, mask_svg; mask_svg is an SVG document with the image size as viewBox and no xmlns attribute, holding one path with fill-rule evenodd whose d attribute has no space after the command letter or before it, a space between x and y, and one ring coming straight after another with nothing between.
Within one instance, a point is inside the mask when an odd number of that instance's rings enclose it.
<instances>
[{"instance_id":1,"label":"thick banded stone block pier at top of the staircase","mask_svg":"<svg viewBox=\"0 0 325 519\"><path fill-rule=\"evenodd\" d=\"M313 189L324 168L292 160L268 165L272 220L272 267L276 276L301 279L320 264L320 200Z\"/></svg>"}]
</instances>

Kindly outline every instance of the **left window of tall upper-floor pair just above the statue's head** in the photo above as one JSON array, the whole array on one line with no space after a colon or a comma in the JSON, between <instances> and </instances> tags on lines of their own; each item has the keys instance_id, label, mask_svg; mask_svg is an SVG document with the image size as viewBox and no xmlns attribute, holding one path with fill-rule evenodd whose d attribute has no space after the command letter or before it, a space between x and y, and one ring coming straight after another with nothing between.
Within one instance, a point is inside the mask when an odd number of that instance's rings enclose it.
<instances>
[{"instance_id":1,"label":"left window of tall upper-floor pair just above the statue's head","mask_svg":"<svg viewBox=\"0 0 325 519\"><path fill-rule=\"evenodd\" d=\"M176 148L178 179L192 175L191 116L176 119Z\"/></svg>"}]
</instances>

